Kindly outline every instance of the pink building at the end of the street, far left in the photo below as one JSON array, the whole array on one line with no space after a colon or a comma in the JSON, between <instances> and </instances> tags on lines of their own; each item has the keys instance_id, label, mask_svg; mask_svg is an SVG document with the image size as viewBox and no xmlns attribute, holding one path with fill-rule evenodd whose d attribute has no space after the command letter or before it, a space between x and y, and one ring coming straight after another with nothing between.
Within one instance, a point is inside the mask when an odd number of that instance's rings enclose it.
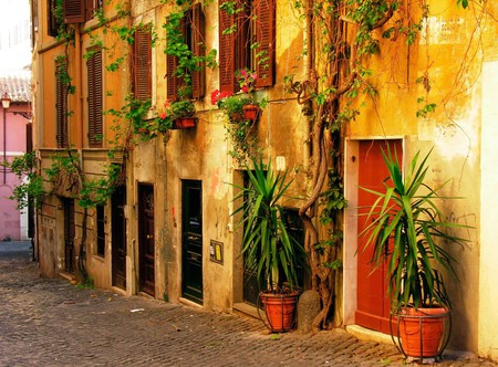
<instances>
[{"instance_id":1,"label":"pink building at the end of the street, far left","mask_svg":"<svg viewBox=\"0 0 498 367\"><path fill-rule=\"evenodd\" d=\"M0 96L4 93L11 102L6 109L0 105L0 161L11 161L31 149L31 72L0 72ZM21 180L0 166L0 241L29 239L28 210L9 199Z\"/></svg>"}]
</instances>

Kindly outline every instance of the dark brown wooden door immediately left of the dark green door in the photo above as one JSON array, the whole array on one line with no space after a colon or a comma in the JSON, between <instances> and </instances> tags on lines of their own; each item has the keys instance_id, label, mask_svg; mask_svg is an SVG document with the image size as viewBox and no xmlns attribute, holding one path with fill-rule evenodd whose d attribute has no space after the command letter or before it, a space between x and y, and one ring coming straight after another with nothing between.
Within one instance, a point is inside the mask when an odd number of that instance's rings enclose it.
<instances>
[{"instance_id":1,"label":"dark brown wooden door immediately left of the dark green door","mask_svg":"<svg viewBox=\"0 0 498 367\"><path fill-rule=\"evenodd\" d=\"M156 294L154 240L154 186L138 185L138 290Z\"/></svg>"}]
</instances>

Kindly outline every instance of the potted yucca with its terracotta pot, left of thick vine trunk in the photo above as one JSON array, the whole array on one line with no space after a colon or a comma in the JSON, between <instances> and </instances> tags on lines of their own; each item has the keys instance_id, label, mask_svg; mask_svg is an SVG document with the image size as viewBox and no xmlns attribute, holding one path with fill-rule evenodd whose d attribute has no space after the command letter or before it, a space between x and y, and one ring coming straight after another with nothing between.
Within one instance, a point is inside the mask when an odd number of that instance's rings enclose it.
<instances>
[{"instance_id":1,"label":"potted yucca with its terracotta pot, left of thick vine trunk","mask_svg":"<svg viewBox=\"0 0 498 367\"><path fill-rule=\"evenodd\" d=\"M271 165L252 159L253 169L246 165L250 184L238 187L235 200L242 203L234 212L240 213L238 228L243 226L242 254L245 266L255 271L259 296L272 332L293 327L295 303L300 294L297 268L304 263L303 248L286 228L280 203L292 181L286 172L273 172Z\"/></svg>"}]
</instances>

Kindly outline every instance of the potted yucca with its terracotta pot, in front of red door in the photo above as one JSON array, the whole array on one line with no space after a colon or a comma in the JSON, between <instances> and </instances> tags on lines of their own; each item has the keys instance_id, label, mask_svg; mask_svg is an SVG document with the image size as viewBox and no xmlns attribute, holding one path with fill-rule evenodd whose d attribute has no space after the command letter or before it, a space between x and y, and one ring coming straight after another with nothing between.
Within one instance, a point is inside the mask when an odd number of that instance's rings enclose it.
<instances>
[{"instance_id":1,"label":"potted yucca with its terracotta pot, in front of red door","mask_svg":"<svg viewBox=\"0 0 498 367\"><path fill-rule=\"evenodd\" d=\"M464 245L468 240L453 234L466 226L447 222L439 205L445 200L424 182L430 151L418 164L419 153L402 174L396 151L383 151L388 177L385 192L363 188L376 196L367 226L360 235L372 247L372 263L385 263L392 315L397 321L401 352L407 357L438 357L446 347L450 302L442 270L457 280L454 263L443 243ZM394 340L394 331L392 331Z\"/></svg>"}]
</instances>

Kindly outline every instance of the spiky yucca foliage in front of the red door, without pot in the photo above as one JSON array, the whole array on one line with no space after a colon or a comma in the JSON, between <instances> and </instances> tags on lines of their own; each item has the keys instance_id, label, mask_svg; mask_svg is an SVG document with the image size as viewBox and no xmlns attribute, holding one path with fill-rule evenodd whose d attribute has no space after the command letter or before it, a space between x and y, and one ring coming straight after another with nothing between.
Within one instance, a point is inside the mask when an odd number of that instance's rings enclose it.
<instances>
[{"instance_id":1,"label":"spiky yucca foliage in front of the red door, without pot","mask_svg":"<svg viewBox=\"0 0 498 367\"><path fill-rule=\"evenodd\" d=\"M373 247L372 263L378 268L386 261L387 293L393 311L404 306L450 307L443 281L442 270L457 279L455 259L446 245L464 245L468 240L453 234L455 229L468 228L446 221L439 205L457 199L438 193L424 180L428 171L430 151L418 164L419 153L409 162L405 177L396 151L382 151L388 177L384 180L385 192L363 188L377 198L372 206L367 222L360 235L366 237Z\"/></svg>"}]
</instances>

